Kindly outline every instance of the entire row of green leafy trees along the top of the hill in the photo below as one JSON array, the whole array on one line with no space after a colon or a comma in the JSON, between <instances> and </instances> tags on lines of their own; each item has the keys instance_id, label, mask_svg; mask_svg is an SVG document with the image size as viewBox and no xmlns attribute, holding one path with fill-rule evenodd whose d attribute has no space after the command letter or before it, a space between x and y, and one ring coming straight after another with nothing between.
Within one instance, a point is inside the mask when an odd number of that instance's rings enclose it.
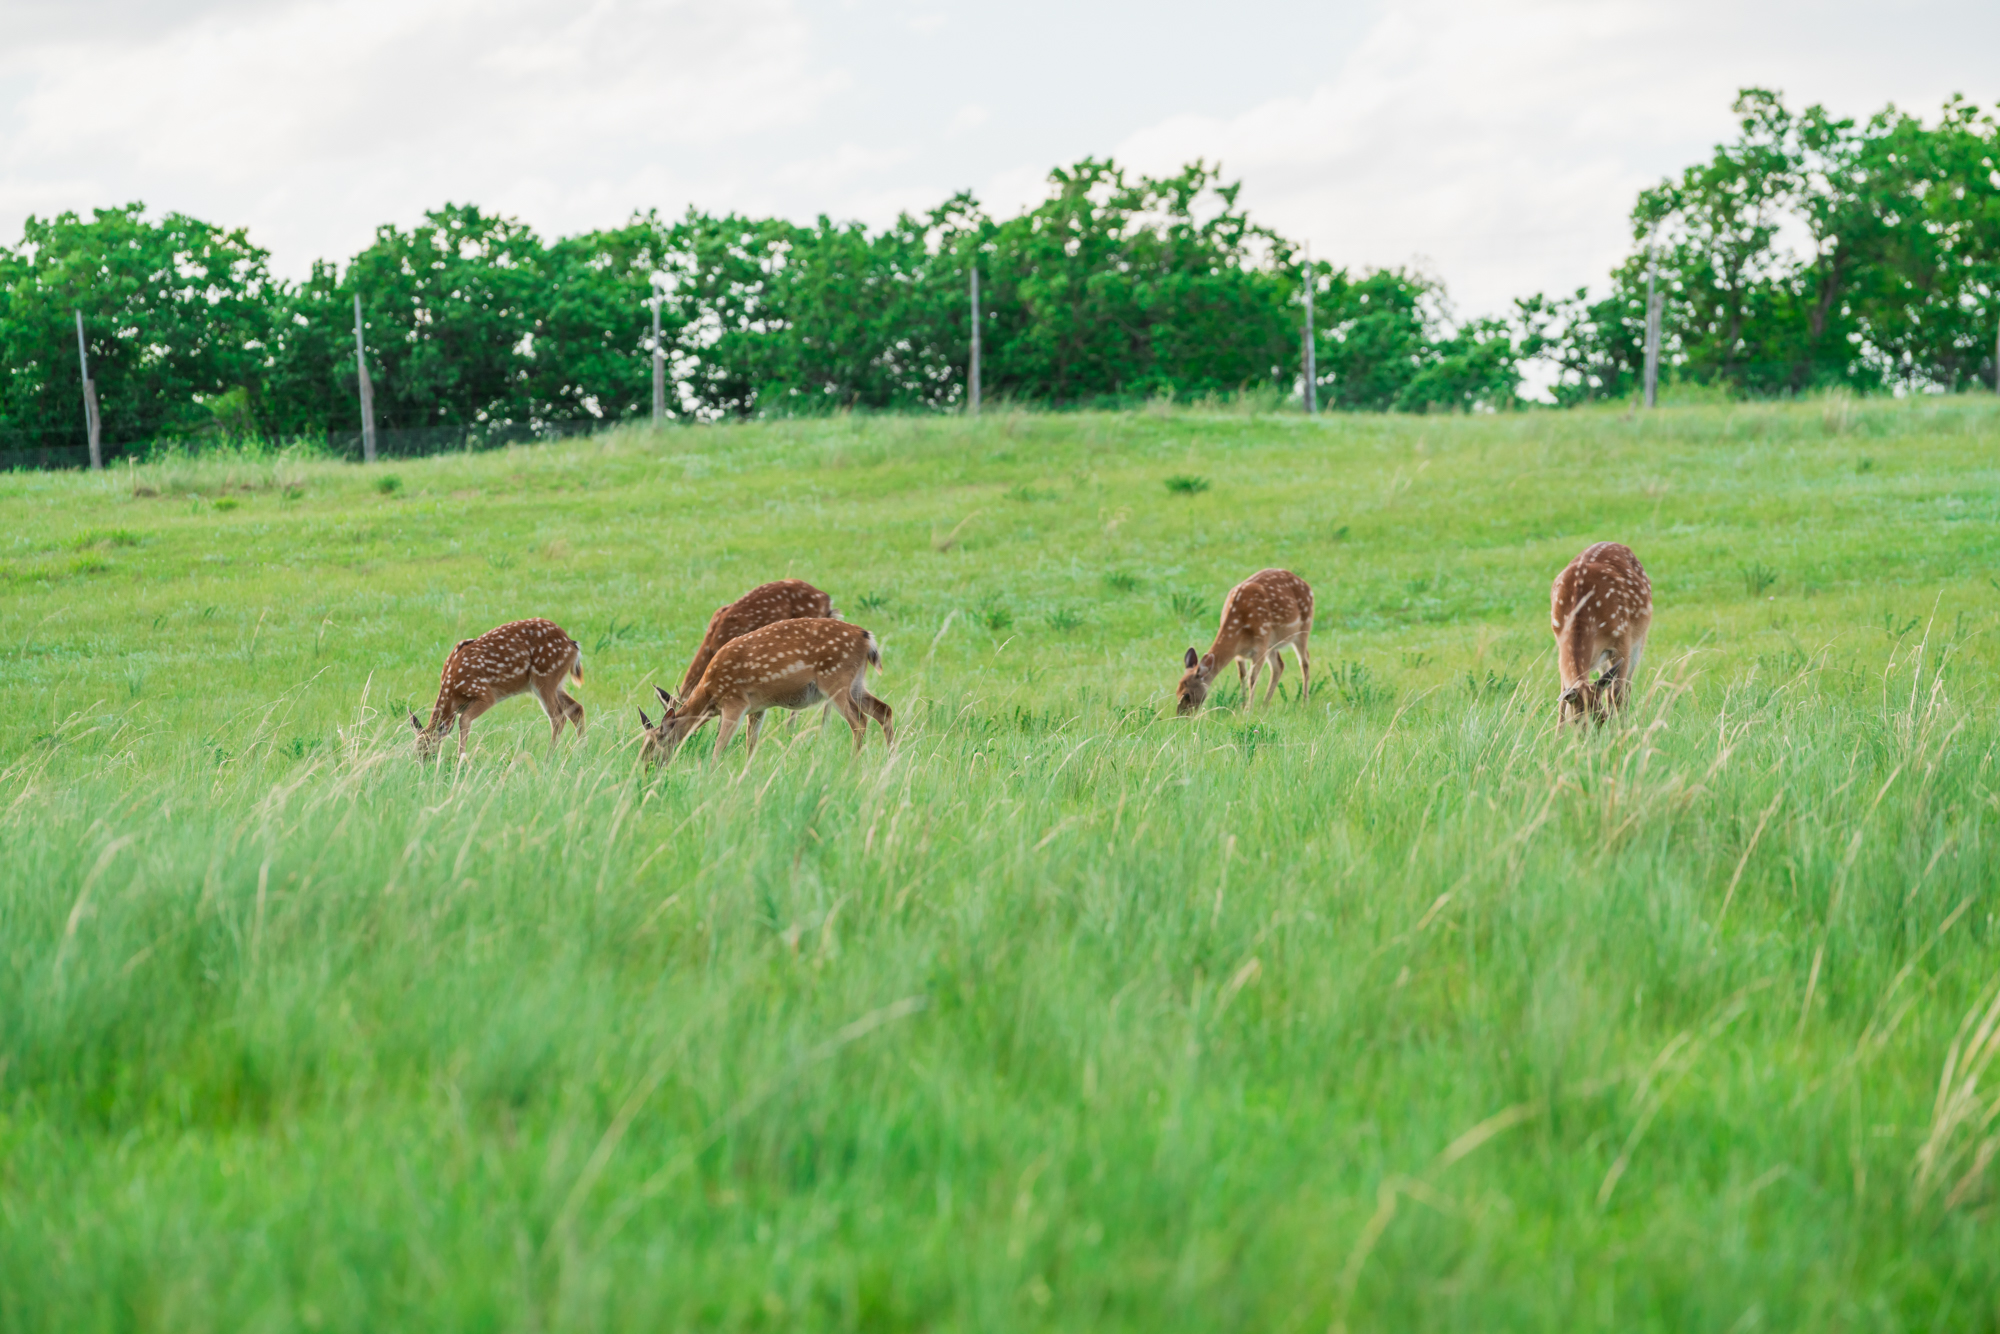
<instances>
[{"instance_id":1,"label":"entire row of green leafy trees along the top of the hill","mask_svg":"<svg viewBox=\"0 0 2000 1334\"><path fill-rule=\"evenodd\" d=\"M1936 124L1790 112L1746 92L1712 162L1640 196L1634 252L1590 300L1532 296L1452 320L1418 272L1310 270L1320 400L1350 410L1626 396L1646 274L1666 294L1668 378L1742 394L1964 388L1992 378L2000 134L1954 100ZM1650 258L1656 256L1656 258ZM242 230L140 204L30 218L0 248L0 448L84 438L76 312L106 438L324 436L358 426L354 298L378 424L546 426L646 416L662 292L676 418L964 400L982 284L986 392L1046 406L1296 392L1308 270L1238 190L1086 160L1012 218L954 196L882 230L704 214L544 240L446 206L304 282Z\"/></svg>"}]
</instances>

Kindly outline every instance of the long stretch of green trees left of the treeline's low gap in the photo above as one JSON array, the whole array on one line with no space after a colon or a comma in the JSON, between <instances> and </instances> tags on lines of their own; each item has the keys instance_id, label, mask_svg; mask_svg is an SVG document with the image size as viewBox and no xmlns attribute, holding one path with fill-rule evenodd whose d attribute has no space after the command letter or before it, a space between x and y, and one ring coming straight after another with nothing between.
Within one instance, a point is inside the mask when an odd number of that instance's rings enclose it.
<instances>
[{"instance_id":1,"label":"long stretch of green trees left of the treeline's low gap","mask_svg":"<svg viewBox=\"0 0 2000 1334\"><path fill-rule=\"evenodd\" d=\"M82 438L74 310L106 430L354 430L356 296L388 430L650 414L656 290L674 416L944 410L966 394L974 266L990 396L1088 406L1296 380L1304 270L1236 186L1204 164L1154 180L1096 160L1050 186L1006 220L954 196L882 230L690 210L554 242L446 206L298 284L244 232L138 204L30 220L0 256L0 430ZM1342 330L1322 348L1332 400L1510 398L1508 358L1466 358L1438 296L1414 274L1320 266L1320 318Z\"/></svg>"}]
</instances>

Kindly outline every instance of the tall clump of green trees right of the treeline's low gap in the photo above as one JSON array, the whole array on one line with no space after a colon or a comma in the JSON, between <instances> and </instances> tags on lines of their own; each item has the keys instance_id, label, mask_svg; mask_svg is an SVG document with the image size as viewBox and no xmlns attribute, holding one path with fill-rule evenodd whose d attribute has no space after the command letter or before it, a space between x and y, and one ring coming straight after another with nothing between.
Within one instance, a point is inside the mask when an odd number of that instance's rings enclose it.
<instances>
[{"instance_id":1,"label":"tall clump of green trees right of the treeline's low gap","mask_svg":"<svg viewBox=\"0 0 2000 1334\"><path fill-rule=\"evenodd\" d=\"M1856 124L1764 90L1734 110L1736 140L1640 194L1608 296L1516 302L1522 350L1558 370L1556 400L1634 390L1654 264L1670 378L1750 396L1990 388L1994 118L1952 98L1934 124L1896 108Z\"/></svg>"}]
</instances>

